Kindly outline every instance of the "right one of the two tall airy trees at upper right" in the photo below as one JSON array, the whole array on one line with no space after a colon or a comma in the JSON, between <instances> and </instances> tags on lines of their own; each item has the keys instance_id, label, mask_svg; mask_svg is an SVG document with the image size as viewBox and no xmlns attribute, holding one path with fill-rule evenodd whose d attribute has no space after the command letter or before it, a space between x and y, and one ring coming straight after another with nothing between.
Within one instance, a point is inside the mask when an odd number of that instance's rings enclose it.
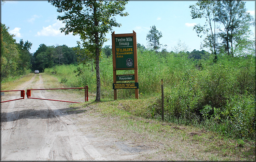
<instances>
[{"instance_id":1,"label":"right one of the two tall airy trees at upper right","mask_svg":"<svg viewBox=\"0 0 256 162\"><path fill-rule=\"evenodd\" d=\"M253 17L246 12L245 2L241 0L217 1L216 21L224 26L224 31L220 33L225 50L228 55L234 55L235 43L239 43L246 33L249 32L250 25L254 25Z\"/></svg>"}]
</instances>

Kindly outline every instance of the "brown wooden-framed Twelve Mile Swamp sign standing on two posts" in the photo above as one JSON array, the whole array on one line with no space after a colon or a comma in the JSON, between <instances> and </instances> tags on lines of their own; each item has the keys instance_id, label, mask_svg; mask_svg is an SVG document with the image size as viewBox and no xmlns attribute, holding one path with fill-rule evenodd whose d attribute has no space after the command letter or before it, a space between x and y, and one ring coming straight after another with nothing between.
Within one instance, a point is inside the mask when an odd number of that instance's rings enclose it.
<instances>
[{"instance_id":1,"label":"brown wooden-framed Twelve Mile Swamp sign standing on two posts","mask_svg":"<svg viewBox=\"0 0 256 162\"><path fill-rule=\"evenodd\" d=\"M114 100L117 99L117 89L135 89L135 98L139 99L138 61L136 33L112 33L113 54L113 90ZM116 75L116 70L134 70L134 74ZM133 81L134 83L116 83L116 81Z\"/></svg>"}]
</instances>

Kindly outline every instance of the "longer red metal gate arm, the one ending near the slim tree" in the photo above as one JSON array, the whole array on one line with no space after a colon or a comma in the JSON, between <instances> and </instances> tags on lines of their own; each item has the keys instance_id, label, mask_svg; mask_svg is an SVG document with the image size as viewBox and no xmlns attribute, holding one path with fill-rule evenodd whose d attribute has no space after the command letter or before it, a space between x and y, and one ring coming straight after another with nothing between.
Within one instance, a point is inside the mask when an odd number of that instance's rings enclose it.
<instances>
[{"instance_id":1,"label":"longer red metal gate arm, the one ending near the slim tree","mask_svg":"<svg viewBox=\"0 0 256 162\"><path fill-rule=\"evenodd\" d=\"M87 85L86 85L85 87L79 87L79 88L46 88L46 89L30 89L30 90L27 90L27 98L40 99L40 100L50 100L50 101L61 101L61 102L82 103L82 102L62 101L62 100L53 100L53 99L44 99L44 98L33 98L33 97L31 97L31 91L34 91L34 90L67 90L67 89L83 89L83 88L84 88L84 93L85 93L85 102L86 102L86 101L88 101L88 86L87 86Z\"/></svg>"}]
</instances>

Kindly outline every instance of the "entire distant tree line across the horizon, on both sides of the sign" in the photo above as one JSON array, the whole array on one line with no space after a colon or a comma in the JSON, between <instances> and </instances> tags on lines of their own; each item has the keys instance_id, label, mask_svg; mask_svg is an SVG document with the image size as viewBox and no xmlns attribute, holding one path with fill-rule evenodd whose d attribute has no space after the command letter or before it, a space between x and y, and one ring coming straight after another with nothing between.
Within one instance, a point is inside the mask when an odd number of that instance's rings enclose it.
<instances>
[{"instance_id":1,"label":"entire distant tree line across the horizon, on both sides of the sign","mask_svg":"<svg viewBox=\"0 0 256 162\"><path fill-rule=\"evenodd\" d=\"M30 53L32 46L31 42L20 40L16 43L8 32L8 27L1 23L1 80L8 77L24 75L30 71L39 70L43 72L45 68L52 68L56 65L69 65L69 64L84 64L90 67L91 71L95 69L94 58L90 57L86 49L77 47L68 47L66 45L46 46L45 44L39 45L39 48L34 53ZM138 51L147 51L145 46L137 43ZM186 51L186 45L179 40L174 51L168 52L163 48L160 52L156 51L162 59L166 59L168 55L186 55L187 58L197 60L197 67L201 67L201 62L198 60L208 59L210 53L205 50ZM81 52L87 53L86 56ZM218 55L223 55L219 53ZM101 49L102 56L112 56L112 47L107 45ZM224 54L225 55L225 54Z\"/></svg>"}]
</instances>

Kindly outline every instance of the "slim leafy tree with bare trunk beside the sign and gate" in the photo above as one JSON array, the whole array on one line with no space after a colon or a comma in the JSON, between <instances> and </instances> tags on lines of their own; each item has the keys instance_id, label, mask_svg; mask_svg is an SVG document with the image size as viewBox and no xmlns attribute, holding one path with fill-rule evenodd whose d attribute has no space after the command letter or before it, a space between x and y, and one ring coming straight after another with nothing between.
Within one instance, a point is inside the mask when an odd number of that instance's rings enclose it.
<instances>
[{"instance_id":1,"label":"slim leafy tree with bare trunk beside the sign and gate","mask_svg":"<svg viewBox=\"0 0 256 162\"><path fill-rule=\"evenodd\" d=\"M64 13L63 16L57 18L66 23L61 32L73 35L80 35L83 41L83 47L87 48L95 58L96 69L96 99L100 101L100 50L104 42L106 42L106 33L112 30L112 27L120 27L114 16L127 16L124 13L127 0L123 1L59 1L48 0L52 5L57 7L57 12Z\"/></svg>"}]
</instances>

